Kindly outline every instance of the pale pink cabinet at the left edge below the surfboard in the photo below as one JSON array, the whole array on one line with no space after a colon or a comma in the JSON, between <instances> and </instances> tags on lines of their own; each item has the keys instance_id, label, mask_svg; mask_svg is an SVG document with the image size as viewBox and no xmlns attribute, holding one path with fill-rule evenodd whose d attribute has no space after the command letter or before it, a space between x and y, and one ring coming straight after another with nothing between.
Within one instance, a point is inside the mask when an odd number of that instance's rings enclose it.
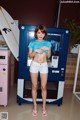
<instances>
[{"instance_id":1,"label":"pale pink cabinet at the left edge below the surfboard","mask_svg":"<svg viewBox=\"0 0 80 120\"><path fill-rule=\"evenodd\" d=\"M10 51L0 50L0 105L7 106L9 93Z\"/></svg>"}]
</instances>

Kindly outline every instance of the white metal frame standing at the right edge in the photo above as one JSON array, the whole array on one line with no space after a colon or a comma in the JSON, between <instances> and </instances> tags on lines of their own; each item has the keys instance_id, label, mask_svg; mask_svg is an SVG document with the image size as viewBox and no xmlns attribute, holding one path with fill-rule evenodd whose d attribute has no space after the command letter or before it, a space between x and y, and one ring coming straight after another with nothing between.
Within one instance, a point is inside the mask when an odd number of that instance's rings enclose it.
<instances>
[{"instance_id":1,"label":"white metal frame standing at the right edge","mask_svg":"<svg viewBox=\"0 0 80 120\"><path fill-rule=\"evenodd\" d=\"M73 86L73 94L77 97L78 100L80 100L80 92L76 91L76 86L77 86L78 73L79 73L79 63L80 63L80 48L77 57L77 65L76 65L76 72L75 72L74 86Z\"/></svg>"}]
</instances>

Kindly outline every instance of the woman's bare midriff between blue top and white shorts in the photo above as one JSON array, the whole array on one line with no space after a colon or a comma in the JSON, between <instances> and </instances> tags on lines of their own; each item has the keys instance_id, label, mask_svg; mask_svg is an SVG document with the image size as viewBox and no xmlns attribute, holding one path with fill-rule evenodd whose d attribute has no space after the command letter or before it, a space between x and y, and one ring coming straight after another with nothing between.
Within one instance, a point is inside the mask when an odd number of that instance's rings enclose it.
<instances>
[{"instance_id":1,"label":"woman's bare midriff between blue top and white shorts","mask_svg":"<svg viewBox=\"0 0 80 120\"><path fill-rule=\"evenodd\" d=\"M47 58L46 53L36 54L33 61L35 61L37 63L45 63L47 61L46 58Z\"/></svg>"}]
</instances>

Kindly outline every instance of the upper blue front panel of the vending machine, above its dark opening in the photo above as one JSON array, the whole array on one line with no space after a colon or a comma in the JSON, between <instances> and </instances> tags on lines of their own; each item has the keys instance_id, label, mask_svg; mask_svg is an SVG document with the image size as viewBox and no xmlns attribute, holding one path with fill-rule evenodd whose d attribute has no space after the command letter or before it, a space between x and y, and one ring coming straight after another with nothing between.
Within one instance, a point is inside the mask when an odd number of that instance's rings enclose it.
<instances>
[{"instance_id":1,"label":"upper blue front panel of the vending machine, above its dark opening","mask_svg":"<svg viewBox=\"0 0 80 120\"><path fill-rule=\"evenodd\" d=\"M20 26L19 75L18 77L30 80L29 67L31 60L28 56L28 44L34 40L36 26ZM66 58L68 50L69 30L63 28L47 28L45 38L51 42L51 57L48 59L48 80L64 81ZM23 72L22 72L23 71Z\"/></svg>"}]
</instances>

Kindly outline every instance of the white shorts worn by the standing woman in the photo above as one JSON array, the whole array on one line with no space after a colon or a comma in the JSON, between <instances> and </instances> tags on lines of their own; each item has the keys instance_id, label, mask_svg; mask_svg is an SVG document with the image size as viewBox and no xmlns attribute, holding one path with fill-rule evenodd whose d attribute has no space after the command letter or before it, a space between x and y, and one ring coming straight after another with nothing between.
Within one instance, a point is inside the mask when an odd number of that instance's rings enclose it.
<instances>
[{"instance_id":1,"label":"white shorts worn by the standing woman","mask_svg":"<svg viewBox=\"0 0 80 120\"><path fill-rule=\"evenodd\" d=\"M32 73L48 73L48 64L45 63L37 63L32 61L30 65L30 72Z\"/></svg>"}]
</instances>

